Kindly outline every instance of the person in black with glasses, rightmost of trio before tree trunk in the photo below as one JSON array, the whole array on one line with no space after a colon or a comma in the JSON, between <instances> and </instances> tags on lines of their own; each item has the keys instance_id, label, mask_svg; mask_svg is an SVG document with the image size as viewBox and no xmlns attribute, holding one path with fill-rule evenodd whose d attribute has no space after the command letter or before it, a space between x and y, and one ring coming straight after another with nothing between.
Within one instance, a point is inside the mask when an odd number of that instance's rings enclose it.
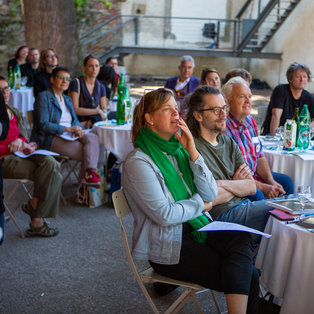
<instances>
[{"instance_id":1,"label":"person in black with glasses, rightmost of trio before tree trunk","mask_svg":"<svg viewBox=\"0 0 314 314\"><path fill-rule=\"evenodd\" d=\"M58 65L58 56L52 48L47 48L41 51L39 59L39 72L34 79L34 96L35 98L40 92L51 87L50 74Z\"/></svg>"}]
</instances>

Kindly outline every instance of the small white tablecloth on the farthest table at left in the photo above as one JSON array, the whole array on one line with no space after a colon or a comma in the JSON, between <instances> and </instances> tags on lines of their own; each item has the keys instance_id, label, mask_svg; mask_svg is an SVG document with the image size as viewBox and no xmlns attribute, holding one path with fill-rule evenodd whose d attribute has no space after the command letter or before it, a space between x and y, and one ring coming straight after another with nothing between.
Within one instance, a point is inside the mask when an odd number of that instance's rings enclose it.
<instances>
[{"instance_id":1,"label":"small white tablecloth on the farthest table at left","mask_svg":"<svg viewBox=\"0 0 314 314\"><path fill-rule=\"evenodd\" d=\"M17 108L26 116L26 111L34 110L34 95L32 88L21 88L10 91L9 105Z\"/></svg>"}]
</instances>

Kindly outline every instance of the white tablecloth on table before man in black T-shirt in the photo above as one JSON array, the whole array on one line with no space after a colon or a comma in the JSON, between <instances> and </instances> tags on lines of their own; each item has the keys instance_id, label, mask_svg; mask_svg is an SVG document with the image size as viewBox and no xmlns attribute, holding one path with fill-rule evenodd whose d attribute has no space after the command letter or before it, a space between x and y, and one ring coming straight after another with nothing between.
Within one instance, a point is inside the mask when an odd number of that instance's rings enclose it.
<instances>
[{"instance_id":1,"label":"white tablecloth on table before man in black T-shirt","mask_svg":"<svg viewBox=\"0 0 314 314\"><path fill-rule=\"evenodd\" d=\"M263 151L272 171L284 173L293 180L295 192L298 185L311 185L314 194L314 154L308 154L313 160L303 160L298 155L283 153L282 150Z\"/></svg>"}]
</instances>

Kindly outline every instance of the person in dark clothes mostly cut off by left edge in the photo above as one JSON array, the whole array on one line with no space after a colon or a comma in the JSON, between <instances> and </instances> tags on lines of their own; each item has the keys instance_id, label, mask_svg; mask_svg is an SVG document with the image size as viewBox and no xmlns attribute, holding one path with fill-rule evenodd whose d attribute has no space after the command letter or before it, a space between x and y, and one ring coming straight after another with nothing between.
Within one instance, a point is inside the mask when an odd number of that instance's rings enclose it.
<instances>
[{"instance_id":1,"label":"person in dark clothes mostly cut off by left edge","mask_svg":"<svg viewBox=\"0 0 314 314\"><path fill-rule=\"evenodd\" d=\"M9 130L9 116L6 110L3 88L0 93L0 142L8 135ZM2 161L0 159L0 245L4 240L4 204L3 204L3 180L2 180Z\"/></svg>"}]
</instances>

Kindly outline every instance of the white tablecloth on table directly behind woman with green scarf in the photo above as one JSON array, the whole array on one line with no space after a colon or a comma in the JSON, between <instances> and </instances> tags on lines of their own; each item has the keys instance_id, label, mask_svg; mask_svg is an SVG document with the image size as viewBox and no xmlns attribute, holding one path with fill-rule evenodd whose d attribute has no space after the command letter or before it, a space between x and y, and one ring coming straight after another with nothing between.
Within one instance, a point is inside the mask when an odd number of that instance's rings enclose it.
<instances>
[{"instance_id":1,"label":"white tablecloth on table directly behind woman with green scarf","mask_svg":"<svg viewBox=\"0 0 314 314\"><path fill-rule=\"evenodd\" d=\"M97 122L93 131L98 135L99 143L115 154L119 160L124 160L133 150L131 141L131 125L113 125L110 121Z\"/></svg>"}]
</instances>

